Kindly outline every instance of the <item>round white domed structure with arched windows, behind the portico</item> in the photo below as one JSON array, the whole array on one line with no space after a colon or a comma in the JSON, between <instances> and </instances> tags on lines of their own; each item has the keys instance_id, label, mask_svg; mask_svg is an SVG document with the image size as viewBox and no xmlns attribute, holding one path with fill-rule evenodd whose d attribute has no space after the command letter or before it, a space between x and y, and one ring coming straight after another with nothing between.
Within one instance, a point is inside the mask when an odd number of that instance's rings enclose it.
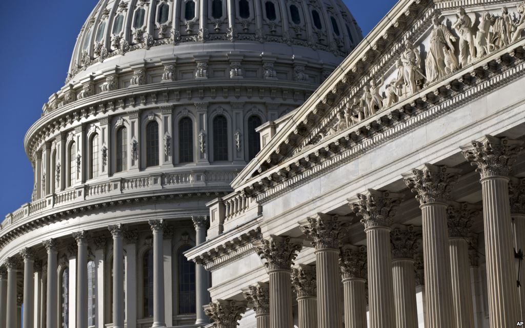
<instances>
[{"instance_id":1,"label":"round white domed structure with arched windows, behind the portico","mask_svg":"<svg viewBox=\"0 0 525 328\"><path fill-rule=\"evenodd\" d=\"M361 39L340 0L100 0L24 140L0 328L207 324L206 203Z\"/></svg>"}]
</instances>

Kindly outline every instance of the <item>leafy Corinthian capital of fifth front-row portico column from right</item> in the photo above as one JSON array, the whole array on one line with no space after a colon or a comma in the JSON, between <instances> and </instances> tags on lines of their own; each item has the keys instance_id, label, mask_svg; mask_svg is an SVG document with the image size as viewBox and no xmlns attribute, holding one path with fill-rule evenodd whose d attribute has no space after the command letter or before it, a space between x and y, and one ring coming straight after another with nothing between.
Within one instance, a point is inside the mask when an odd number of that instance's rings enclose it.
<instances>
[{"instance_id":1,"label":"leafy Corinthian capital of fifth front-row portico column from right","mask_svg":"<svg viewBox=\"0 0 525 328\"><path fill-rule=\"evenodd\" d=\"M257 255L266 260L268 272L277 270L290 271L302 248L302 240L283 236L270 236L269 239L259 239L253 242Z\"/></svg>"}]
</instances>

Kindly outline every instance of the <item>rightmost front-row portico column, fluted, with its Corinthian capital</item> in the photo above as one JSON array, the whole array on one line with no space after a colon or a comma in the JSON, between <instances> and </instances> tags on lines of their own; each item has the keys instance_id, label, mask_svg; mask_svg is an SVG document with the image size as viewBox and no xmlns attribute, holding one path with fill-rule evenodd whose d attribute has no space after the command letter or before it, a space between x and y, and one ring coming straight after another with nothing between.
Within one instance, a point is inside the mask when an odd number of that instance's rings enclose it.
<instances>
[{"instance_id":1,"label":"rightmost front-row portico column, fluted, with its Corinthian capital","mask_svg":"<svg viewBox=\"0 0 525 328\"><path fill-rule=\"evenodd\" d=\"M464 149L481 176L488 303L491 327L511 327L520 317L514 269L509 174L523 141L487 135Z\"/></svg>"}]
</instances>

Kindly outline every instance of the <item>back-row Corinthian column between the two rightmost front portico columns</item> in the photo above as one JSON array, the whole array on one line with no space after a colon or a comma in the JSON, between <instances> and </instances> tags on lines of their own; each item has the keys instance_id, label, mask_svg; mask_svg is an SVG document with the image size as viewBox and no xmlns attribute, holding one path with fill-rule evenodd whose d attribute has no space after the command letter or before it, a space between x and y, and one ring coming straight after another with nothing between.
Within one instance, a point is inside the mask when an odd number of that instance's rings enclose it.
<instances>
[{"instance_id":1,"label":"back-row Corinthian column between the two rightmost front portico columns","mask_svg":"<svg viewBox=\"0 0 525 328\"><path fill-rule=\"evenodd\" d=\"M468 236L472 218L479 211L467 203L452 203L448 209L452 293L458 328L474 328Z\"/></svg>"}]
</instances>

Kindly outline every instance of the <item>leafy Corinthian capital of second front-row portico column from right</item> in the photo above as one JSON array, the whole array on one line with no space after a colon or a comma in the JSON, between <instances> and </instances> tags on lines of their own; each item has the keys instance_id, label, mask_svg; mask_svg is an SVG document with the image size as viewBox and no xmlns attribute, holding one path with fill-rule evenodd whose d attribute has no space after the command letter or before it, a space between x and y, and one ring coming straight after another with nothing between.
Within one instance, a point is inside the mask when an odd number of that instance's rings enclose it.
<instances>
[{"instance_id":1,"label":"leafy Corinthian capital of second front-row portico column from right","mask_svg":"<svg viewBox=\"0 0 525 328\"><path fill-rule=\"evenodd\" d=\"M414 168L412 173L404 174L405 184L416 193L416 199L422 206L428 203L446 203L450 192L457 183L461 170L445 165L425 163L421 168Z\"/></svg>"}]
</instances>

